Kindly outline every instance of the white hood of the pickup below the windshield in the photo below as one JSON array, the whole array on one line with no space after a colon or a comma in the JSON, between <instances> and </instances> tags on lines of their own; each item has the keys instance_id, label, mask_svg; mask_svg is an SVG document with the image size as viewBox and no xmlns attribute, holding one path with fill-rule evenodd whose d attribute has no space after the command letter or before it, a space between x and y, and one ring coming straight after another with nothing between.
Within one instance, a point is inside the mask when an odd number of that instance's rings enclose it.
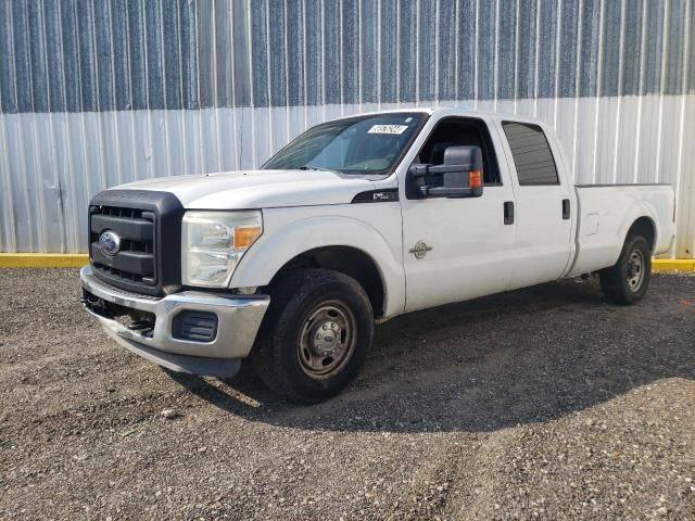
<instances>
[{"instance_id":1,"label":"white hood of the pickup below the windshield","mask_svg":"<svg viewBox=\"0 0 695 521\"><path fill-rule=\"evenodd\" d=\"M118 188L172 192L186 208L244 209L348 204L357 193L379 187L362 176L326 170L242 170L164 177Z\"/></svg>"}]
</instances>

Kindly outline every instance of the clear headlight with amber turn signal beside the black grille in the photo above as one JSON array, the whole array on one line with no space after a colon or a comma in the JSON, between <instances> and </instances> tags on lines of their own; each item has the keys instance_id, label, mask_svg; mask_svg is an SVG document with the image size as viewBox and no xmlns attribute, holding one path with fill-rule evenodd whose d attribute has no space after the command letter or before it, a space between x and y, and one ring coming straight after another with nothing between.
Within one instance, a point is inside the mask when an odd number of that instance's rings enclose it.
<instances>
[{"instance_id":1,"label":"clear headlight with amber turn signal beside the black grille","mask_svg":"<svg viewBox=\"0 0 695 521\"><path fill-rule=\"evenodd\" d=\"M181 226L184 284L224 288L263 232L260 211L186 212Z\"/></svg>"}]
</instances>

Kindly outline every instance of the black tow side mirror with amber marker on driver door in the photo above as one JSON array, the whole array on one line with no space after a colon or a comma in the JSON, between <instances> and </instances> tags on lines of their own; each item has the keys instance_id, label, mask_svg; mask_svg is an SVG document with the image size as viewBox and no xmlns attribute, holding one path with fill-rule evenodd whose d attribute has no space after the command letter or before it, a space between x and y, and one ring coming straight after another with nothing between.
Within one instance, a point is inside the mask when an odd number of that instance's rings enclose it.
<instances>
[{"instance_id":1,"label":"black tow side mirror with amber marker on driver door","mask_svg":"<svg viewBox=\"0 0 695 521\"><path fill-rule=\"evenodd\" d=\"M481 196L480 147L448 147L442 165L414 164L408 170L408 192L415 199Z\"/></svg>"}]
</instances>

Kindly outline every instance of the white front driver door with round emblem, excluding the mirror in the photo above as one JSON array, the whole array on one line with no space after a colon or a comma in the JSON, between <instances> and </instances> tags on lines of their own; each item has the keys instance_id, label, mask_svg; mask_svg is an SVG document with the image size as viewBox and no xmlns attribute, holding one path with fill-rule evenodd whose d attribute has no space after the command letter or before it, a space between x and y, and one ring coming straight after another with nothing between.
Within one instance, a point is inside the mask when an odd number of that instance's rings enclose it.
<instances>
[{"instance_id":1,"label":"white front driver door with round emblem, excluding the mirror","mask_svg":"<svg viewBox=\"0 0 695 521\"><path fill-rule=\"evenodd\" d=\"M482 196L407 199L401 182L406 312L505 291L515 264L514 191L500 143L482 117L442 117L416 163L441 164L452 145L483 155ZM406 174L407 175L407 174Z\"/></svg>"}]
</instances>

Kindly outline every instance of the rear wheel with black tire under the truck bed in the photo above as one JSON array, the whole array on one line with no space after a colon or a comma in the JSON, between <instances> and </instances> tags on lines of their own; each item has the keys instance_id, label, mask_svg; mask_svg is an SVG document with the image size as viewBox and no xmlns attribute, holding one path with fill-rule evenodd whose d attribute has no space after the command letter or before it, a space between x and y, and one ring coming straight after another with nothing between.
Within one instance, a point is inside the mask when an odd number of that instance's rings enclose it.
<instances>
[{"instance_id":1,"label":"rear wheel with black tire under the truck bed","mask_svg":"<svg viewBox=\"0 0 695 521\"><path fill-rule=\"evenodd\" d=\"M652 279L652 247L642 236L628 236L618 262L602 269L601 289L606 301L631 306L642 300Z\"/></svg>"}]
</instances>

